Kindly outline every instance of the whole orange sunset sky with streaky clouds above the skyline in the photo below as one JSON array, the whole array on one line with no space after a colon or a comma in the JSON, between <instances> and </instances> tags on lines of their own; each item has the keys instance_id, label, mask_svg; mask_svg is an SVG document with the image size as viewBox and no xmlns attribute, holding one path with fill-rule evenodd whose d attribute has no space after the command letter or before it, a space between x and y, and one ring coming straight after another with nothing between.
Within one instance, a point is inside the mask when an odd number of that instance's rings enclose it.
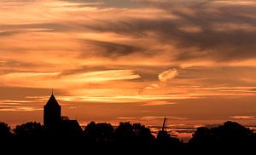
<instances>
[{"instance_id":1,"label":"whole orange sunset sky with streaky clouds above the skyline","mask_svg":"<svg viewBox=\"0 0 256 155\"><path fill-rule=\"evenodd\" d=\"M0 120L256 125L256 1L1 0Z\"/></svg>"}]
</instances>

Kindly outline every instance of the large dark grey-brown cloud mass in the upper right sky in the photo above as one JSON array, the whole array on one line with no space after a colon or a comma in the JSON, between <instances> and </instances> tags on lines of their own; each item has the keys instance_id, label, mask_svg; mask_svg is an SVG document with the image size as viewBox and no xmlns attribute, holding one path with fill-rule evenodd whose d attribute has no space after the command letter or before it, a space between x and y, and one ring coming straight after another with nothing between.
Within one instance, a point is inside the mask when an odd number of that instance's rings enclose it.
<instances>
[{"instance_id":1,"label":"large dark grey-brown cloud mass in the upper right sky","mask_svg":"<svg viewBox=\"0 0 256 155\"><path fill-rule=\"evenodd\" d=\"M210 1L194 1L184 5L157 1L148 3L151 13L154 9L160 9L177 18L167 20L153 14L152 19L140 17L138 20L133 16L125 19L129 20L128 23L117 18L118 21L106 22L107 26L96 23L91 28L100 32L152 37L158 43L172 44L179 49L175 51L177 55L174 60L230 61L255 58L252 50L255 49L255 22L250 16L255 14L255 6L241 3L243 7L240 7L230 3L213 5ZM238 8L240 12L236 10ZM241 50L247 51L246 54L241 55Z\"/></svg>"}]
</instances>

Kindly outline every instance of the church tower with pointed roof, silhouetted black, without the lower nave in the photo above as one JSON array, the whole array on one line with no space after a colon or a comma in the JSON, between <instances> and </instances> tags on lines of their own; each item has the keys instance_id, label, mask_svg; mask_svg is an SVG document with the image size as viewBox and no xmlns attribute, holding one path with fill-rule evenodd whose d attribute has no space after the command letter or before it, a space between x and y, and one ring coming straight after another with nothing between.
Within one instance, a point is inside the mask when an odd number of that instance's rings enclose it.
<instances>
[{"instance_id":1,"label":"church tower with pointed roof, silhouetted black, without the lower nave","mask_svg":"<svg viewBox=\"0 0 256 155\"><path fill-rule=\"evenodd\" d=\"M44 106L44 128L51 133L61 125L61 106L55 99L55 95L51 95L48 102Z\"/></svg>"}]
</instances>

